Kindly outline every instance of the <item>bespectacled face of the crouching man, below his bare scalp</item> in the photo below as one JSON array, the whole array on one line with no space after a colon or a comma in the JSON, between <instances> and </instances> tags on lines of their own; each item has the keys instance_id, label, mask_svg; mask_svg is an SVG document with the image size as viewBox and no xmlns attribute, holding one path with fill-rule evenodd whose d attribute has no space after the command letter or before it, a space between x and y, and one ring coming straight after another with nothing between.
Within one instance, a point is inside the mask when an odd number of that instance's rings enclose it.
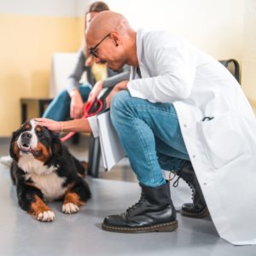
<instances>
[{"instance_id":1,"label":"bespectacled face of the crouching man, below his bare scalp","mask_svg":"<svg viewBox=\"0 0 256 256\"><path fill-rule=\"evenodd\" d=\"M108 68L116 71L125 65L123 44L117 32L107 33L98 40L89 35L86 42L96 63L106 63Z\"/></svg>"}]
</instances>

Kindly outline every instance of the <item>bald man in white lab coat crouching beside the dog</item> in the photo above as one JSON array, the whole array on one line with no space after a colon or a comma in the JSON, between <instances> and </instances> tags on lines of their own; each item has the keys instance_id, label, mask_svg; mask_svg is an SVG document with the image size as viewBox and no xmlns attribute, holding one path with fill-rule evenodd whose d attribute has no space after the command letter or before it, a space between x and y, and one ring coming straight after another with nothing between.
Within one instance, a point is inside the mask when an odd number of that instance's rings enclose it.
<instances>
[{"instance_id":1,"label":"bald man in white lab coat crouching beside the dog","mask_svg":"<svg viewBox=\"0 0 256 256\"><path fill-rule=\"evenodd\" d=\"M236 79L183 39L135 32L124 16L110 11L96 16L85 40L96 62L113 70L131 66L131 80L117 84L107 102L142 187L140 201L105 218L102 228L176 230L164 169L195 189L194 204L183 206L185 215L203 217L208 207L220 236L255 242L256 124Z\"/></svg>"}]
</instances>

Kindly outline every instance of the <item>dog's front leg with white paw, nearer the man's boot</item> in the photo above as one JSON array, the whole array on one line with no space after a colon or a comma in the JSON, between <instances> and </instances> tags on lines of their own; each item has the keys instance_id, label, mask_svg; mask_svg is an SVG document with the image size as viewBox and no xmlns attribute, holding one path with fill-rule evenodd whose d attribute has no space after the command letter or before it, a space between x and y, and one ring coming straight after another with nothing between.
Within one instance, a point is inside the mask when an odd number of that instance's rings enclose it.
<instances>
[{"instance_id":1,"label":"dog's front leg with white paw, nearer the man's boot","mask_svg":"<svg viewBox=\"0 0 256 256\"><path fill-rule=\"evenodd\" d=\"M82 178L79 178L79 183L76 183L72 189L67 190L62 212L67 214L78 212L79 206L83 206L88 199L90 199L89 186Z\"/></svg>"}]
</instances>

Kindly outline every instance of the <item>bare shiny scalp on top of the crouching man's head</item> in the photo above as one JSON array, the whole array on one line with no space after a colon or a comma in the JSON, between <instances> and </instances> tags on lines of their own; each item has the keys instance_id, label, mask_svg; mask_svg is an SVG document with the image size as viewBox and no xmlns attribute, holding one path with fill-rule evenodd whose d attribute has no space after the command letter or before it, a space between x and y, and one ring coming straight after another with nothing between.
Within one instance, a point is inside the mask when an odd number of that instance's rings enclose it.
<instances>
[{"instance_id":1,"label":"bare shiny scalp on top of the crouching man's head","mask_svg":"<svg viewBox=\"0 0 256 256\"><path fill-rule=\"evenodd\" d=\"M90 45L110 32L119 32L120 35L125 36L131 31L133 30L123 15L103 11L90 22L85 32L85 40Z\"/></svg>"}]
</instances>

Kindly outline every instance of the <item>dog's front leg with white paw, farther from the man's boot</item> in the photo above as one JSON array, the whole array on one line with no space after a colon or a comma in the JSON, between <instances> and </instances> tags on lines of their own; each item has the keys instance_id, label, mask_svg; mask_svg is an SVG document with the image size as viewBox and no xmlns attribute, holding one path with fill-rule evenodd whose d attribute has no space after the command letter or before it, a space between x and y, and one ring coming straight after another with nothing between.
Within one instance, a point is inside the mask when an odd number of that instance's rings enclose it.
<instances>
[{"instance_id":1,"label":"dog's front leg with white paw, farther from the man's boot","mask_svg":"<svg viewBox=\"0 0 256 256\"><path fill-rule=\"evenodd\" d=\"M20 207L40 221L50 222L55 219L55 213L44 203L42 192L30 185L17 186Z\"/></svg>"}]
</instances>

